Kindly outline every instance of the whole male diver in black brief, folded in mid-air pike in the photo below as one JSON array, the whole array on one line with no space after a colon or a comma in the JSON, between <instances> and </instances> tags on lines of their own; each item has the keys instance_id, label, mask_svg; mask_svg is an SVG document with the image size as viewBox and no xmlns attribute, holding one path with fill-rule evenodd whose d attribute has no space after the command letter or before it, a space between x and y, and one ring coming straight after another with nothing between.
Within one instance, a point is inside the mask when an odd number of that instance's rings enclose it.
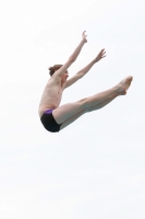
<instances>
[{"instance_id":1,"label":"whole male diver in black brief, folded in mid-air pike","mask_svg":"<svg viewBox=\"0 0 145 219\"><path fill-rule=\"evenodd\" d=\"M68 80L68 68L76 60L85 43L87 43L87 39L85 32L83 32L81 43L70 56L68 61L64 65L55 65L49 68L51 78L46 84L38 108L40 120L48 131L58 132L76 120L83 114L97 111L106 106L117 96L125 95L126 90L133 80L133 77L129 76L109 90L82 99L74 103L68 103L59 106L64 89L83 78L97 61L106 57L105 49L101 49L92 62Z\"/></svg>"}]
</instances>

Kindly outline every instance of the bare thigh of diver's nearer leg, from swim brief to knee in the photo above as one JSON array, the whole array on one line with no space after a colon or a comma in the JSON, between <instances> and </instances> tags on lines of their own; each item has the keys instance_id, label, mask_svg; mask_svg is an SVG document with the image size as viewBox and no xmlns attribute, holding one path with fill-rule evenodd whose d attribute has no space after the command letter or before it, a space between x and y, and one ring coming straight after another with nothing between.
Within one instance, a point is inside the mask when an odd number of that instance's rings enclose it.
<instances>
[{"instance_id":1,"label":"bare thigh of diver's nearer leg, from swim brief to knee","mask_svg":"<svg viewBox=\"0 0 145 219\"><path fill-rule=\"evenodd\" d=\"M85 110L86 106L86 99L83 99L81 101L74 102L74 103L68 103L59 108L55 108L52 111L52 115L58 124L64 123L70 117L74 116L78 112Z\"/></svg>"}]
</instances>

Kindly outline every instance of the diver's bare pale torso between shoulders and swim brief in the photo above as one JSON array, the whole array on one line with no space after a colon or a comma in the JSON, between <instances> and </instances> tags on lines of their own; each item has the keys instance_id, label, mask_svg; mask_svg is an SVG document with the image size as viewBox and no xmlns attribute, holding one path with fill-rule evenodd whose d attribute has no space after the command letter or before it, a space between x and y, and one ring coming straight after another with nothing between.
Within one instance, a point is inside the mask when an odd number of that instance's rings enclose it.
<instances>
[{"instance_id":1,"label":"diver's bare pale torso between shoulders and swim brief","mask_svg":"<svg viewBox=\"0 0 145 219\"><path fill-rule=\"evenodd\" d=\"M59 107L65 83L61 82L61 78L59 80L56 80L56 77L49 79L39 103L38 114L40 117L48 108Z\"/></svg>"}]
</instances>

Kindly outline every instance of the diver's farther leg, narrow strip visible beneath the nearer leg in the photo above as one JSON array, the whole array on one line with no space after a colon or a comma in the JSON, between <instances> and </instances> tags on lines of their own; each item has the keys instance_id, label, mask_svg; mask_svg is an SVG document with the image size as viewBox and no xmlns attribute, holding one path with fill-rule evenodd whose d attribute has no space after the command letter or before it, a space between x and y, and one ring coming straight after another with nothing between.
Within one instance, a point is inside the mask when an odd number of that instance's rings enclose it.
<instances>
[{"instance_id":1,"label":"diver's farther leg, narrow strip visible beneath the nearer leg","mask_svg":"<svg viewBox=\"0 0 145 219\"><path fill-rule=\"evenodd\" d=\"M95 106L90 106L88 108L85 108L83 111L81 111L80 113L75 114L74 116L72 116L71 118L67 119L64 123L62 123L60 130L62 130L63 128L65 128L67 126L69 126L70 124L72 124L74 120L76 120L78 117L81 117L82 115L84 115L85 113L89 113L92 111L97 111L99 108L102 108L104 106L106 106L108 103L110 103L112 100L114 100L118 95L111 95L109 99L107 99L106 101L95 105Z\"/></svg>"}]
</instances>

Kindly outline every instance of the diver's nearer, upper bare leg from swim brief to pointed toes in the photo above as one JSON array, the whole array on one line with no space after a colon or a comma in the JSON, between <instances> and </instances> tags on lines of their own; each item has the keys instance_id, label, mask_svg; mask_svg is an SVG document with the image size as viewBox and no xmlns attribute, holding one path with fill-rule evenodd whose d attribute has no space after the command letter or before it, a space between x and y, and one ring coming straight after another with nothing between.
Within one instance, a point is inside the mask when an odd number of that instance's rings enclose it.
<instances>
[{"instance_id":1,"label":"diver's nearer, upper bare leg from swim brief to pointed toes","mask_svg":"<svg viewBox=\"0 0 145 219\"><path fill-rule=\"evenodd\" d=\"M71 118L72 116L76 116L76 114L81 112L83 112L84 114L84 112L86 112L87 108L90 108L92 106L102 103L104 101L109 99L111 95L125 94L126 90L129 89L131 84L131 81L132 81L132 77L128 77L124 80L122 80L118 85L113 87L112 89L109 89L101 93L83 99L75 103L62 105L59 108L53 110L52 112L53 117L58 124L62 124L69 118Z\"/></svg>"}]
</instances>

